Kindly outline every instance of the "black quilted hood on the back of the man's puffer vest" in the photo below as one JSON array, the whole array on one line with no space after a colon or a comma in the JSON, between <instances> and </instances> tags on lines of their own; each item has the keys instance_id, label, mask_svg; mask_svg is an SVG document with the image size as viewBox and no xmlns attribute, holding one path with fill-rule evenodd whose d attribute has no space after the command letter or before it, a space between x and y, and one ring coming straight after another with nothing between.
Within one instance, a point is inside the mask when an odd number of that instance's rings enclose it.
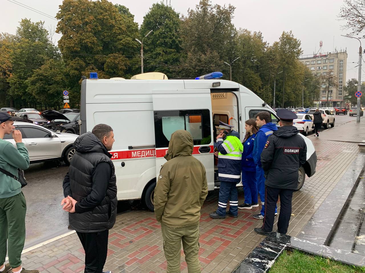
<instances>
[{"instance_id":1,"label":"black quilted hood on the back of the man's puffer vest","mask_svg":"<svg viewBox=\"0 0 365 273\"><path fill-rule=\"evenodd\" d=\"M73 143L73 146L79 153L103 153L108 155L109 158L112 157L107 148L92 132L80 135Z\"/></svg>"}]
</instances>

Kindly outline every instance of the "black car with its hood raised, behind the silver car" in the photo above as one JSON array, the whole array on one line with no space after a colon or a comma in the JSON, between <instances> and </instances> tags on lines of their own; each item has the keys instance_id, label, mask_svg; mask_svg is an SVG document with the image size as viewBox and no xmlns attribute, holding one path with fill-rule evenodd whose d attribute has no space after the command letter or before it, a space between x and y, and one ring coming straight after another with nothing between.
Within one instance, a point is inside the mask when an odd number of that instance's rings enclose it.
<instances>
[{"instance_id":1,"label":"black car with its hood raised, behind the silver car","mask_svg":"<svg viewBox=\"0 0 365 273\"><path fill-rule=\"evenodd\" d=\"M46 110L41 113L45 118L50 120L49 124L44 127L54 132L66 132L80 134L80 112L68 112L61 114L55 110Z\"/></svg>"}]
</instances>

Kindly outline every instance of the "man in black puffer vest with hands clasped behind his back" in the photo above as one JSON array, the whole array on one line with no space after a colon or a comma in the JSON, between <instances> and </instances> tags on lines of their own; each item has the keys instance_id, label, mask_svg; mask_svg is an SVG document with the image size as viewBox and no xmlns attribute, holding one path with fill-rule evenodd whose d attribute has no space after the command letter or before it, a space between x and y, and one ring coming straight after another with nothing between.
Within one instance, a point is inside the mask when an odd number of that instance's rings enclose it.
<instances>
[{"instance_id":1,"label":"man in black puffer vest with hands clasped behind his back","mask_svg":"<svg viewBox=\"0 0 365 273\"><path fill-rule=\"evenodd\" d=\"M96 125L74 142L61 205L69 211L70 226L85 250L85 273L102 273L108 251L109 230L116 218L116 177L111 154L113 129ZM110 272L110 271L109 271Z\"/></svg>"}]
</instances>

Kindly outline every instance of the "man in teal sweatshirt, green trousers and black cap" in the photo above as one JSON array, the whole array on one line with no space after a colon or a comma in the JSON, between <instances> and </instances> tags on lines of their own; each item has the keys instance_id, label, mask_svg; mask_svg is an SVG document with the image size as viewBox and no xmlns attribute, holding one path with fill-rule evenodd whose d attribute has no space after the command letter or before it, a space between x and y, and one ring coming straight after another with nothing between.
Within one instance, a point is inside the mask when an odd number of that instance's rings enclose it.
<instances>
[{"instance_id":1,"label":"man in teal sweatshirt, green trousers and black cap","mask_svg":"<svg viewBox=\"0 0 365 273\"><path fill-rule=\"evenodd\" d=\"M0 168L18 177L18 168L29 167L28 150L22 142L22 133L14 130L14 120L6 112L0 112ZM5 134L12 134L16 148L3 140ZM39 273L39 270L22 268L20 256L25 241L25 214L27 204L20 182L0 171L0 272ZM4 265L7 253L9 264Z\"/></svg>"}]
</instances>

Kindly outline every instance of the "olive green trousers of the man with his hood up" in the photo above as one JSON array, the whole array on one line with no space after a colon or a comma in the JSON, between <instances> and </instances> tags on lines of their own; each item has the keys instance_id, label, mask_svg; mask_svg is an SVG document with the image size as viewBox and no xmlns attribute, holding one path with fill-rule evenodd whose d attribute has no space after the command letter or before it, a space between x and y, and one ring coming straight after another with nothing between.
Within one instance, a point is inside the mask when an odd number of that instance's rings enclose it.
<instances>
[{"instance_id":1,"label":"olive green trousers of the man with his hood up","mask_svg":"<svg viewBox=\"0 0 365 273\"><path fill-rule=\"evenodd\" d=\"M189 273L200 272L199 225L172 228L161 223L167 273L180 273L181 241Z\"/></svg>"}]
</instances>

